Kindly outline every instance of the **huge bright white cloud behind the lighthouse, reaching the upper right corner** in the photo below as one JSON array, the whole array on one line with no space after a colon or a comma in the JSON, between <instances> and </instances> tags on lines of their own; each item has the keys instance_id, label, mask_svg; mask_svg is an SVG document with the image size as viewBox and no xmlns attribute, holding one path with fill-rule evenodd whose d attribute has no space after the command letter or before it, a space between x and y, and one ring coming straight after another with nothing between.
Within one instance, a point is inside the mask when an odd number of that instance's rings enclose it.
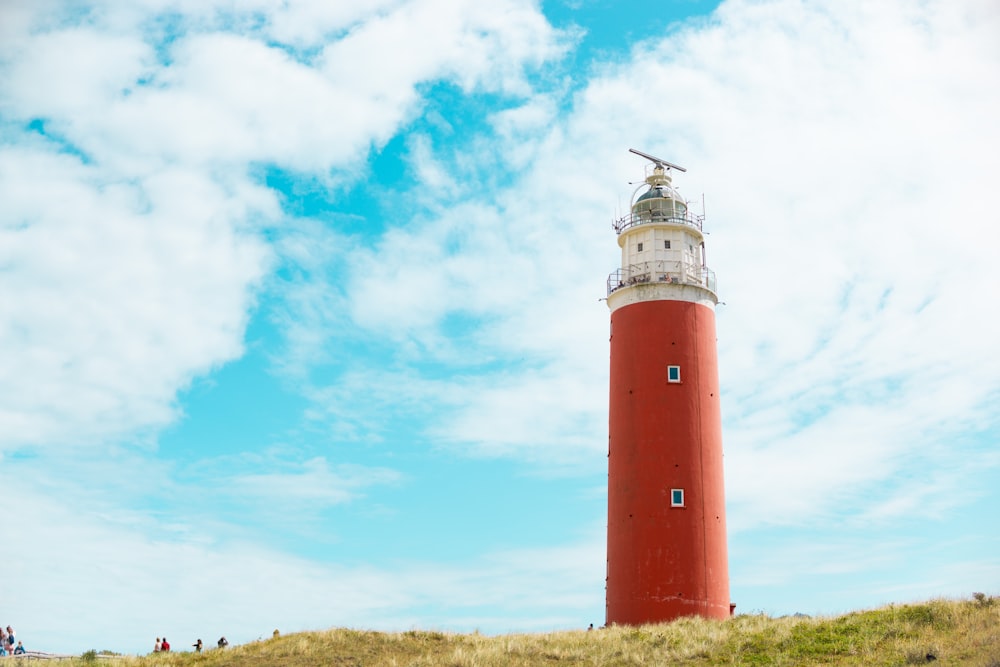
<instances>
[{"instance_id":1,"label":"huge bright white cloud behind the lighthouse, reaching the upper right corner","mask_svg":"<svg viewBox=\"0 0 1000 667\"><path fill-rule=\"evenodd\" d=\"M986 268L996 236L987 193L1000 165L982 150L1000 111L982 85L1000 67L998 20L975 2L729 3L709 25L646 43L589 83L542 142L525 126L534 162L509 192L473 188L363 252L355 321L438 350L438 327L472 313L467 351L528 354L527 369L558 359L550 370L571 383L569 369L587 369L581 393L603 396L606 313L590 317L583 304L617 262L603 222L616 197L608 184L639 168L625 147L646 148L691 169L677 179L688 197L708 191L740 522L835 511L903 470L947 467L935 443L991 420L984 410L1000 391L990 352L1000 318L981 302L998 287ZM517 155L516 126L498 127ZM564 426L555 415L574 412L517 400L565 393L533 373L456 377L440 393L467 396L466 407L434 434L534 458L530 447L500 446L505 434L551 442ZM604 435L590 435L602 450Z\"/></svg>"}]
</instances>

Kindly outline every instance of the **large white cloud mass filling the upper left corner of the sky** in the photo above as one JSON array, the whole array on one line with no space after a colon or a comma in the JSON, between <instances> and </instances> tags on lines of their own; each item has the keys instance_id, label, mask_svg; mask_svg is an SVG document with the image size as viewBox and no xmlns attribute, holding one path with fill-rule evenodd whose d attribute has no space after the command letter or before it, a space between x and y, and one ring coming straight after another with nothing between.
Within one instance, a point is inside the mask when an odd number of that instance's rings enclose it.
<instances>
[{"instance_id":1,"label":"large white cloud mass filling the upper left corner of the sky","mask_svg":"<svg viewBox=\"0 0 1000 667\"><path fill-rule=\"evenodd\" d=\"M11 9L27 34L3 51L0 280L14 296L2 335L18 378L0 413L5 447L162 426L193 376L241 354L272 260L256 234L280 216L251 167L322 177L391 136L421 83L526 92L523 69L562 48L516 2L499 13L421 2L371 15L302 3L243 15L197 3L79 9L73 27ZM190 32L158 23L173 10ZM314 67L219 23L261 16L293 36L304 16L354 28ZM416 37L400 41L400 29Z\"/></svg>"}]
</instances>

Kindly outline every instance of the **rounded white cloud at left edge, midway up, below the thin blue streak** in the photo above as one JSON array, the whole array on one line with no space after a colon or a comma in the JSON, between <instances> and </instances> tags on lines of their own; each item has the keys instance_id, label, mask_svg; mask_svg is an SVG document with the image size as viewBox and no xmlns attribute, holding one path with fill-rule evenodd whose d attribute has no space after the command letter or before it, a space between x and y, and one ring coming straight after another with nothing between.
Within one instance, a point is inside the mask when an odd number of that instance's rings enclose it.
<instances>
[{"instance_id":1,"label":"rounded white cloud at left edge, midway up, below the thin blue streak","mask_svg":"<svg viewBox=\"0 0 1000 667\"><path fill-rule=\"evenodd\" d=\"M269 197L185 170L115 181L0 150L4 448L163 425L178 388L242 351L268 252L239 227Z\"/></svg>"}]
</instances>

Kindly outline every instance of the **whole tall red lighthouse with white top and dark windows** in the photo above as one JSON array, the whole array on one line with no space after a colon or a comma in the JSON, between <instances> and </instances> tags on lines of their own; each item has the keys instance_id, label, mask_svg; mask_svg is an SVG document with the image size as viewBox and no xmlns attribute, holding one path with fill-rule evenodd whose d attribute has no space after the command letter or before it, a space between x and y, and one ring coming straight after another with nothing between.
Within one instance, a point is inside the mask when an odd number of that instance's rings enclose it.
<instances>
[{"instance_id":1,"label":"whole tall red lighthouse with white top and dark windows","mask_svg":"<svg viewBox=\"0 0 1000 667\"><path fill-rule=\"evenodd\" d=\"M621 268L608 278L607 623L727 618L722 416L715 273L703 216L653 163L614 223Z\"/></svg>"}]
</instances>

